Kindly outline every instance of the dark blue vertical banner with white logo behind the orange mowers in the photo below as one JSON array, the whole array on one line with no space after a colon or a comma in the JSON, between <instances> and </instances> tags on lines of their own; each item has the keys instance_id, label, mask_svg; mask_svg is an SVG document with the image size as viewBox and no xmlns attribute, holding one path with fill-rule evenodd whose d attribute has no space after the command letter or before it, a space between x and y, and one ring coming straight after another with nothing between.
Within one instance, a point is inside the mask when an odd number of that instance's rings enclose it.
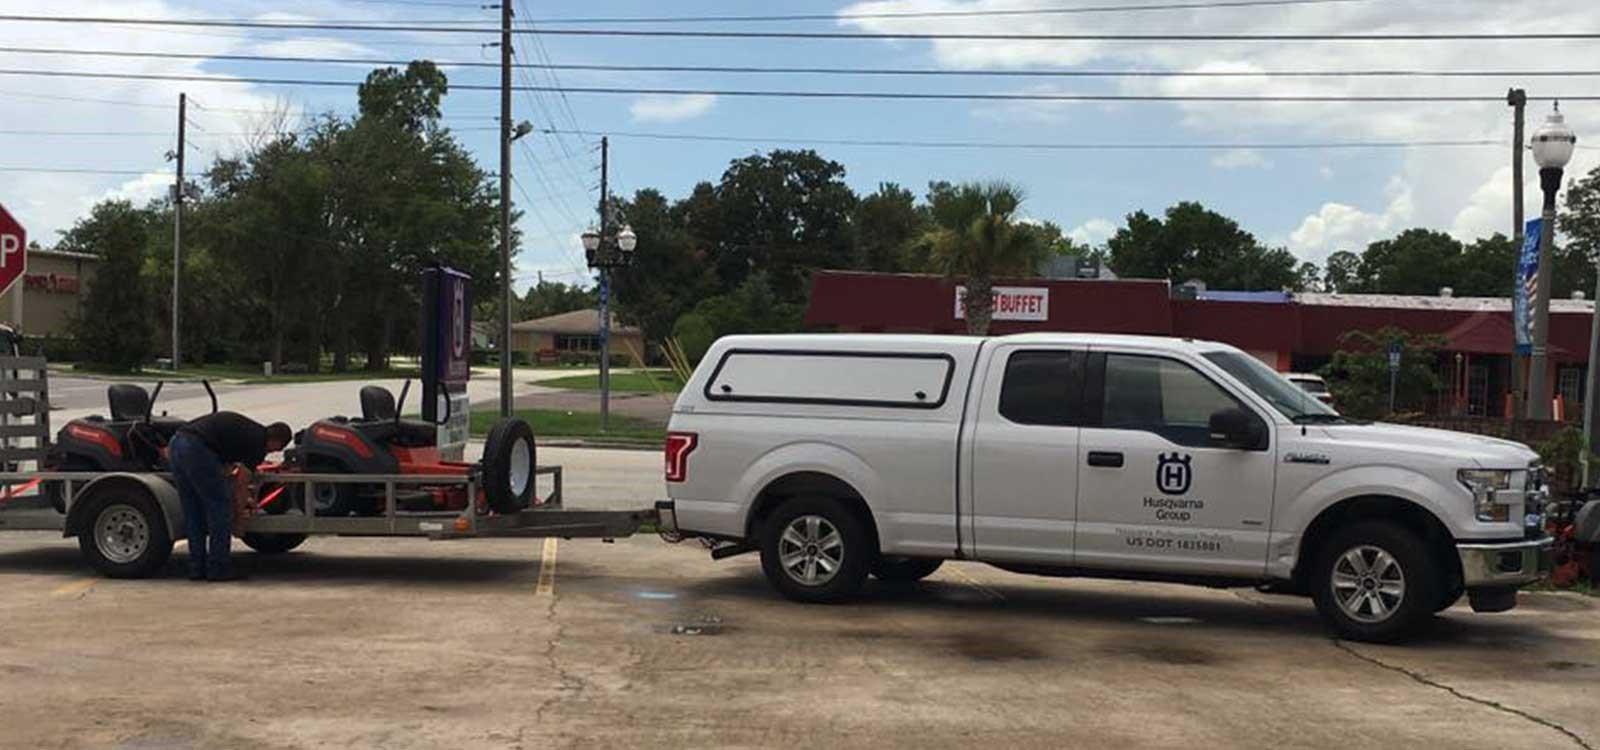
<instances>
[{"instance_id":1,"label":"dark blue vertical banner with white logo behind the orange mowers","mask_svg":"<svg viewBox=\"0 0 1600 750\"><path fill-rule=\"evenodd\" d=\"M472 403L472 277L454 269L422 272L422 419L438 425L440 457L467 448Z\"/></svg>"}]
</instances>

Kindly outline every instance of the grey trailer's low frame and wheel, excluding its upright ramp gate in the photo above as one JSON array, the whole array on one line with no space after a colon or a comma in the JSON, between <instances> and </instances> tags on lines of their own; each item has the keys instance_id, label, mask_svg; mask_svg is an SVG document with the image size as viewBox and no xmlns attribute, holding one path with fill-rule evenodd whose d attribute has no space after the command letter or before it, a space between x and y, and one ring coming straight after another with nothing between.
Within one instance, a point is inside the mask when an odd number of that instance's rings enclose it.
<instances>
[{"instance_id":1,"label":"grey trailer's low frame and wheel, excluding its upright ramp gate","mask_svg":"<svg viewBox=\"0 0 1600 750\"><path fill-rule=\"evenodd\" d=\"M541 465L538 477L549 477L552 489L538 505L518 513L466 510L402 510L397 489L408 486L466 485L474 493L474 477L462 475L350 475L274 473L272 485L304 488L290 493L282 512L253 515L235 521L235 534L259 553L285 553L310 536L363 537L562 537L619 539L658 523L648 510L576 510L562 505L562 467ZM0 531L59 531L77 537L83 558L107 577L149 577L158 574L184 537L184 512L178 488L168 473L133 472L3 472L0 486L24 488L61 481L66 512L50 507L10 507L0 504ZM384 510L368 517L317 515L315 488L322 485L382 485ZM475 505L475 504L474 504Z\"/></svg>"}]
</instances>

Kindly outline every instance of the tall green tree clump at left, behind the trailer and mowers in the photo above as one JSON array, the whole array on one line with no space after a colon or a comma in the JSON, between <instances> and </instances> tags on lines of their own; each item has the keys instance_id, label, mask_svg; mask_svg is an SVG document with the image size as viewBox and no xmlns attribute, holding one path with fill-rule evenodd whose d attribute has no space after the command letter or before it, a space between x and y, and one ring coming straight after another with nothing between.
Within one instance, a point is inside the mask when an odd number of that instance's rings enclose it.
<instances>
[{"instance_id":1,"label":"tall green tree clump at left, behind the trailer and mowers","mask_svg":"<svg viewBox=\"0 0 1600 750\"><path fill-rule=\"evenodd\" d=\"M494 288L499 195L440 123L446 91L432 62L373 70L355 115L278 115L184 186L186 363L384 369L418 349L421 269ZM173 208L102 201L62 232L58 249L101 256L80 357L133 369L168 350Z\"/></svg>"}]
</instances>

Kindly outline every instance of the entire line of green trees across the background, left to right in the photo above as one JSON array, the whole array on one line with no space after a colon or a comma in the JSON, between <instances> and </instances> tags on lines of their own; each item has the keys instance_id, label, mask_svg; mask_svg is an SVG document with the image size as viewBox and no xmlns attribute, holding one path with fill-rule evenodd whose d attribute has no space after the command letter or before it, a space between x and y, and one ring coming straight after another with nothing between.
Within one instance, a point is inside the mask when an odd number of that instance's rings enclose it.
<instances>
[{"instance_id":1,"label":"entire line of green trees across the background, left to right","mask_svg":"<svg viewBox=\"0 0 1600 750\"><path fill-rule=\"evenodd\" d=\"M302 128L267 123L237 157L186 186L182 336L186 360L272 361L317 371L382 369L416 345L418 272L434 262L474 275L477 315L498 288L494 181L440 122L448 80L432 62L373 70L349 117ZM1270 246L1197 201L1134 211L1104 243L1074 241L1027 217L1006 182L925 190L883 182L858 193L845 166L808 149L734 158L715 181L669 198L643 189L610 209L640 237L614 273L618 317L646 341L678 336L691 352L718 336L800 328L818 269L1026 277L1054 259L1098 261L1123 278L1203 281L1214 289L1507 296L1517 248L1408 229L1325 265ZM1555 294L1589 289L1600 249L1600 171L1574 181L1560 217ZM171 198L104 201L64 232L59 249L102 257L75 323L80 350L133 368L166 350ZM512 237L515 248L517 237ZM976 305L989 296L970 296ZM592 307L592 285L541 281L518 301L526 320ZM970 310L974 329L987 312Z\"/></svg>"}]
</instances>

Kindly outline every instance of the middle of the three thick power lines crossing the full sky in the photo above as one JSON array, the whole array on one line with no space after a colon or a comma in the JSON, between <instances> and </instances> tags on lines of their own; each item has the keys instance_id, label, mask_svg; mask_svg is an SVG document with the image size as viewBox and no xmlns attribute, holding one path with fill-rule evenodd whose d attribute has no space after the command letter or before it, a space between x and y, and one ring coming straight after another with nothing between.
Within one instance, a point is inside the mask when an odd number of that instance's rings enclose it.
<instances>
[{"instance_id":1,"label":"middle of the three thick power lines crossing the full sky","mask_svg":"<svg viewBox=\"0 0 1600 750\"><path fill-rule=\"evenodd\" d=\"M93 58L133 59L195 59L227 62L307 62L331 66L406 66L408 59L373 58L315 58L280 54L202 54L202 53L146 53L122 50L58 50L37 46L0 46L0 53L16 54L64 54ZM485 61L434 61L438 67L499 69L499 62ZM643 72L643 74L774 74L774 75L893 75L893 77L960 77L960 78L1542 78L1542 77L1597 77L1600 69L1586 70L1429 70L1429 69L1357 69L1357 70L1038 70L1038 69L938 69L938 67L792 67L792 66L630 66L589 62L515 62L517 69L587 70L587 72ZM562 88L555 82L555 88Z\"/></svg>"}]
</instances>

